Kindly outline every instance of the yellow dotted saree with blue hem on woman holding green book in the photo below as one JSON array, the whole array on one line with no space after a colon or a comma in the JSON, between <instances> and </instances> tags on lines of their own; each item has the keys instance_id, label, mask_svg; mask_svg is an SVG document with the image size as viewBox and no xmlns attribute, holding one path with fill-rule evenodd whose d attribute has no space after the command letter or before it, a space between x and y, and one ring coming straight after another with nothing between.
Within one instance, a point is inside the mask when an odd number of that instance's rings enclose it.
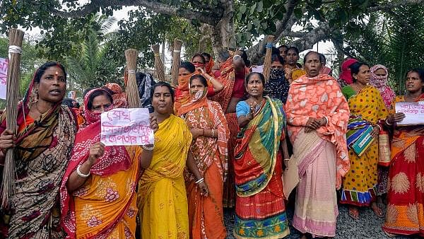
<instances>
[{"instance_id":1,"label":"yellow dotted saree with blue hem on woman holding green book","mask_svg":"<svg viewBox=\"0 0 424 239\"><path fill-rule=\"evenodd\" d=\"M346 86L350 87L350 86ZM358 94L348 100L351 115L360 115L362 119L376 124L387 117L387 109L377 88L365 86ZM369 206L377 194L378 140L374 140L362 156L353 149L349 150L351 170L343 180L341 204Z\"/></svg>"}]
</instances>

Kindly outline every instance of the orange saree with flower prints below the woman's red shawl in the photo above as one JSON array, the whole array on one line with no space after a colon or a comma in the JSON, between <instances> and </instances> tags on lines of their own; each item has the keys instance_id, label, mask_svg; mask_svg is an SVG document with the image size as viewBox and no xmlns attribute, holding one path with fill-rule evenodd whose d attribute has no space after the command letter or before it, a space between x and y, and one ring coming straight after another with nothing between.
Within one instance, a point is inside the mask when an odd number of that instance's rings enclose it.
<instances>
[{"instance_id":1,"label":"orange saree with flower prints below the woman's red shawl","mask_svg":"<svg viewBox=\"0 0 424 239\"><path fill-rule=\"evenodd\" d=\"M125 148L132 161L129 170L106 177L91 175L83 187L73 192L76 238L89 238L109 230L107 238L135 238L138 212L135 189L141 148ZM121 216L122 219L117 219Z\"/></svg>"}]
</instances>

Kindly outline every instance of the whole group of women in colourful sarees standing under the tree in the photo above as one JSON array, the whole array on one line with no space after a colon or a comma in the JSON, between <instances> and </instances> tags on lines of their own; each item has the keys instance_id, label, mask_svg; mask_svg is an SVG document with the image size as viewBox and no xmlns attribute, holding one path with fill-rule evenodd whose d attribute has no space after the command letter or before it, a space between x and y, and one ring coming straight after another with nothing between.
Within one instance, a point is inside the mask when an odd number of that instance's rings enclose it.
<instances>
[{"instance_id":1,"label":"whole group of women in colourful sarees standing under the tree","mask_svg":"<svg viewBox=\"0 0 424 239\"><path fill-rule=\"evenodd\" d=\"M336 235L338 200L353 219L359 206L384 216L382 194L387 235L424 235L424 128L398 125L405 115L396 113L396 103L424 101L424 71L408 71L407 93L396 96L382 65L348 59L337 81L322 54L308 52L299 66L295 47L273 52L269 79L249 72L242 51L182 62L177 86L152 87L155 142L145 146L100 143L101 113L127 105L118 85L90 89L77 121L61 105L64 66L40 66L16 132L6 113L0 119L1 163L14 148L16 168L0 235L225 238L223 207L235 205L235 238L283 238L294 187L302 238ZM384 131L389 168L378 166ZM358 151L364 134L374 140Z\"/></svg>"}]
</instances>

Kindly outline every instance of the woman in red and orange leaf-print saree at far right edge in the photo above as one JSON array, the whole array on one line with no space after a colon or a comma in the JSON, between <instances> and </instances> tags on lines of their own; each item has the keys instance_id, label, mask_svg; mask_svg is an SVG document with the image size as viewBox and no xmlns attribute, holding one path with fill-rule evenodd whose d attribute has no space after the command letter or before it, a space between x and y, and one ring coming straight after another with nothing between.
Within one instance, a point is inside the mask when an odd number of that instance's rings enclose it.
<instances>
[{"instance_id":1,"label":"woman in red and orange leaf-print saree at far right edge","mask_svg":"<svg viewBox=\"0 0 424 239\"><path fill-rule=\"evenodd\" d=\"M395 112L396 103L424 101L423 69L408 71L405 84L408 92L395 98L386 119L394 134L383 230L391 237L391 233L424 237L424 125L396 125L405 115Z\"/></svg>"}]
</instances>

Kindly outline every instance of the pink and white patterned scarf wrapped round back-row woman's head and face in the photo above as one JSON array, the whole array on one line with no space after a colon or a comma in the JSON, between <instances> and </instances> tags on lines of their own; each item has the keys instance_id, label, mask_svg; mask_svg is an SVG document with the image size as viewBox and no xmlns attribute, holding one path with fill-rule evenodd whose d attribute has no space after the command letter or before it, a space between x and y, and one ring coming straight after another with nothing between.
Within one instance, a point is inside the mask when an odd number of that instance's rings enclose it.
<instances>
[{"instance_id":1,"label":"pink and white patterned scarf wrapped round back-row woman's head and face","mask_svg":"<svg viewBox=\"0 0 424 239\"><path fill-rule=\"evenodd\" d=\"M378 69L383 69L386 72L386 76L377 76L375 74L375 71L377 71ZM371 67L370 74L371 74L370 85L374 86L375 88L379 90L380 95L382 95L384 105L386 105L386 107L389 108L391 101L396 97L396 94L390 88L390 86L387 86L389 71L387 71L386 66L377 64Z\"/></svg>"}]
</instances>

